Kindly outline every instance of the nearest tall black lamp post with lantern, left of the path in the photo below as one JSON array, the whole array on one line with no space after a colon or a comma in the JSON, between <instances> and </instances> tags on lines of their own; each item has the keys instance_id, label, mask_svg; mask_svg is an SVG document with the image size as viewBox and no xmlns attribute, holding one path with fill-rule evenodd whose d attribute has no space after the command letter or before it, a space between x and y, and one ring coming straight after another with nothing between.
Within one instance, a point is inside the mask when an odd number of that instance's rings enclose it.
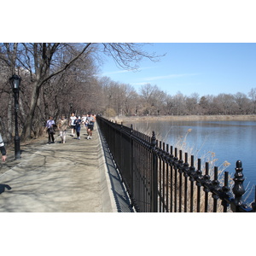
<instances>
[{"instance_id":1,"label":"nearest tall black lamp post with lantern, left of the path","mask_svg":"<svg viewBox=\"0 0 256 256\"><path fill-rule=\"evenodd\" d=\"M12 85L15 96L15 159L20 159L20 137L18 130L18 110L19 110L19 91L20 91L20 76L13 75L9 79L9 83Z\"/></svg>"}]
</instances>

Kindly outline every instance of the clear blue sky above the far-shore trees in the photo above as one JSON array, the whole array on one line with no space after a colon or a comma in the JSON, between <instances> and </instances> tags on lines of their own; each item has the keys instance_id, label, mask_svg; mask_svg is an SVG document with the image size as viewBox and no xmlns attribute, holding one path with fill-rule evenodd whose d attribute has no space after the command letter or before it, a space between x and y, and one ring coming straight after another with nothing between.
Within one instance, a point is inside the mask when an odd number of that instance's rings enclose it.
<instances>
[{"instance_id":1,"label":"clear blue sky above the far-shore trees","mask_svg":"<svg viewBox=\"0 0 256 256\"><path fill-rule=\"evenodd\" d=\"M166 54L158 62L140 63L138 72L127 72L108 58L102 76L131 84L156 84L170 95L180 91L185 96L219 93L247 95L256 88L256 44L253 43L158 43L145 47L148 52Z\"/></svg>"}]
</instances>

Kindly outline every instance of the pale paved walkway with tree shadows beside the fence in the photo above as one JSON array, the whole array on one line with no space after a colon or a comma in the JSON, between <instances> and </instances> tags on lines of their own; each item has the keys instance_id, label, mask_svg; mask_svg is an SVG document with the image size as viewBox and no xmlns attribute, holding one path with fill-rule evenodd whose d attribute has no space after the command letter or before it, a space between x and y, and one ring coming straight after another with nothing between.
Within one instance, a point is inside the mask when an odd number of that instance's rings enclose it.
<instances>
[{"instance_id":1,"label":"pale paved walkway with tree shadows beside the fence","mask_svg":"<svg viewBox=\"0 0 256 256\"><path fill-rule=\"evenodd\" d=\"M65 144L44 138L21 146L20 160L9 156L0 172L0 212L133 212L97 125L91 140L85 133L78 140L68 131Z\"/></svg>"}]
</instances>

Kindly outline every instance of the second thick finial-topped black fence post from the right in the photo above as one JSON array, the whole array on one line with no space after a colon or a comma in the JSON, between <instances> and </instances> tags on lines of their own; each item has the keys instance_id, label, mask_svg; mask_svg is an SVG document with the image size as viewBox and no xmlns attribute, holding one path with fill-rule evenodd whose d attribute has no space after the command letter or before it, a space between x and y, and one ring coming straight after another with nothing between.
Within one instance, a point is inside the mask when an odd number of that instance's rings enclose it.
<instances>
[{"instance_id":1,"label":"second thick finial-topped black fence post from the right","mask_svg":"<svg viewBox=\"0 0 256 256\"><path fill-rule=\"evenodd\" d=\"M157 177L157 155L156 139L154 131L151 137L151 152L152 152L152 182L151 182L151 212L157 212L157 190L158 190L158 177Z\"/></svg>"}]
</instances>

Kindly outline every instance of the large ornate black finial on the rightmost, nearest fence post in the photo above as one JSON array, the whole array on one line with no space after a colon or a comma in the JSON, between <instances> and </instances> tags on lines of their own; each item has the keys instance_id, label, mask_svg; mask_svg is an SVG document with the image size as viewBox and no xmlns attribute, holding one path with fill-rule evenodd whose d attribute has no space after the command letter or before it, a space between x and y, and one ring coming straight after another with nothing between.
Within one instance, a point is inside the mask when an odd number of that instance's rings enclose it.
<instances>
[{"instance_id":1,"label":"large ornate black finial on the rightmost, nearest fence post","mask_svg":"<svg viewBox=\"0 0 256 256\"><path fill-rule=\"evenodd\" d=\"M241 206L241 197L245 193L245 189L243 188L244 178L242 174L243 168L241 167L241 160L236 161L235 170L236 170L236 173L235 173L235 177L233 178L235 184L232 191L235 195L235 205L236 207L239 207Z\"/></svg>"}]
</instances>

